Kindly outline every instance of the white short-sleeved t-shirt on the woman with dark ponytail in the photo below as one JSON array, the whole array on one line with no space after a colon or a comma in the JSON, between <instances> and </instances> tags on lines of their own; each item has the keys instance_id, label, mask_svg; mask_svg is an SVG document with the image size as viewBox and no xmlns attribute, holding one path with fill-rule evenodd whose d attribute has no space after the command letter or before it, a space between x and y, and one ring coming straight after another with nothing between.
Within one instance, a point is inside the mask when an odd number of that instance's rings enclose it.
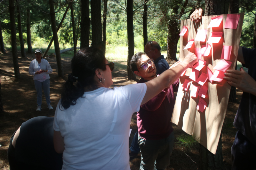
<instances>
[{"instance_id":1,"label":"white short-sleeved t-shirt on the woman with dark ponytail","mask_svg":"<svg viewBox=\"0 0 256 170\"><path fill-rule=\"evenodd\" d=\"M64 137L62 169L130 169L131 118L146 90L145 83L100 87L64 111L59 102L53 129Z\"/></svg>"}]
</instances>

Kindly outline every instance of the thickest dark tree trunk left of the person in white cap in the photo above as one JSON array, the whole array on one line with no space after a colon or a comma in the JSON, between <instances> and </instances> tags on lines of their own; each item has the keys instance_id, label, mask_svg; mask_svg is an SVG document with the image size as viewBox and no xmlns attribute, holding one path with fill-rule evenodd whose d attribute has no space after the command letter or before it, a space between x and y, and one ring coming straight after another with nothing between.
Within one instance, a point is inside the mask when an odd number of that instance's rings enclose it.
<instances>
[{"instance_id":1,"label":"thickest dark tree trunk left of the person in white cap","mask_svg":"<svg viewBox=\"0 0 256 170\"><path fill-rule=\"evenodd\" d=\"M12 60L14 67L14 77L20 78L20 68L17 55L17 39L16 39L16 26L15 26L15 6L14 0L9 0L9 12L10 12L10 23L11 23L11 36L12 36Z\"/></svg>"}]
</instances>

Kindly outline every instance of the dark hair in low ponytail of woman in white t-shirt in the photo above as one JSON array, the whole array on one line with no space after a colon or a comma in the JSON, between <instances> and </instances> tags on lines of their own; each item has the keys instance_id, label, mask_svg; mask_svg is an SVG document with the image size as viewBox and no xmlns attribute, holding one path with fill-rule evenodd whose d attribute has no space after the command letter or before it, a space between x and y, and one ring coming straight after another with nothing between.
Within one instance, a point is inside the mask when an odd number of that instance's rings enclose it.
<instances>
[{"instance_id":1,"label":"dark hair in low ponytail of woman in white t-shirt","mask_svg":"<svg viewBox=\"0 0 256 170\"><path fill-rule=\"evenodd\" d=\"M98 68L106 70L105 56L101 50L87 47L74 55L71 60L72 73L68 75L61 93L60 109L75 105L76 100L83 96L84 87L90 91L98 88L94 80L95 70Z\"/></svg>"}]
</instances>

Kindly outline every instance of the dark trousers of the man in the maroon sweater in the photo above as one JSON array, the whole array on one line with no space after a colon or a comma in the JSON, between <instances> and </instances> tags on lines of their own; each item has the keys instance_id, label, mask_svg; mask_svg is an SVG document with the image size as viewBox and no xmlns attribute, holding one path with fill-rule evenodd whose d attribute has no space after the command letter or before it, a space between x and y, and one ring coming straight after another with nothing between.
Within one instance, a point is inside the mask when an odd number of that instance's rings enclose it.
<instances>
[{"instance_id":1,"label":"dark trousers of the man in the maroon sweater","mask_svg":"<svg viewBox=\"0 0 256 170\"><path fill-rule=\"evenodd\" d=\"M143 169L165 169L170 165L170 156L174 144L174 132L159 140L145 140L139 136L141 163Z\"/></svg>"}]
</instances>

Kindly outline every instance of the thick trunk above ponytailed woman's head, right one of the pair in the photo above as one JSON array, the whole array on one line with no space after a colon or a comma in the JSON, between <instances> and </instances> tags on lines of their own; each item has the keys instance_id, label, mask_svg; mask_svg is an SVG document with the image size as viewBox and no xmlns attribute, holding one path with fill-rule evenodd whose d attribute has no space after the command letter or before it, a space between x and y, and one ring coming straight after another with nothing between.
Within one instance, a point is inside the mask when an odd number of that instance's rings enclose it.
<instances>
[{"instance_id":1,"label":"thick trunk above ponytailed woman's head, right one of the pair","mask_svg":"<svg viewBox=\"0 0 256 170\"><path fill-rule=\"evenodd\" d=\"M102 25L101 25L101 10L100 0L91 1L92 15L92 46L102 48Z\"/></svg>"}]
</instances>

